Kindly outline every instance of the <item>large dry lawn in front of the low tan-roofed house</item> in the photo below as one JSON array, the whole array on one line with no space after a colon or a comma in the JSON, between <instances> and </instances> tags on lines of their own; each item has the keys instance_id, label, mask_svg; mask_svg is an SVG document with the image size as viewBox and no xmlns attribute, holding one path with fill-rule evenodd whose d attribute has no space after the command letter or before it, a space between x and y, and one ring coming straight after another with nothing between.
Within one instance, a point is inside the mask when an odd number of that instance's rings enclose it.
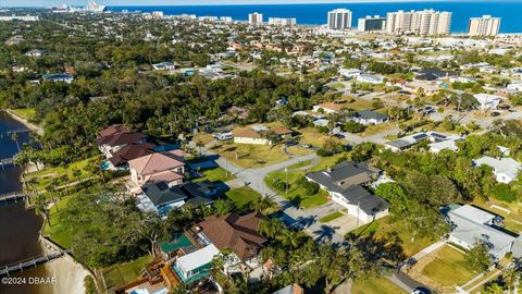
<instances>
[{"instance_id":1,"label":"large dry lawn in front of the low tan-roofed house","mask_svg":"<svg viewBox=\"0 0 522 294\"><path fill-rule=\"evenodd\" d=\"M223 143L212 148L212 151L241 168L272 166L290 158L281 151L281 145L272 147L266 145Z\"/></svg>"}]
</instances>

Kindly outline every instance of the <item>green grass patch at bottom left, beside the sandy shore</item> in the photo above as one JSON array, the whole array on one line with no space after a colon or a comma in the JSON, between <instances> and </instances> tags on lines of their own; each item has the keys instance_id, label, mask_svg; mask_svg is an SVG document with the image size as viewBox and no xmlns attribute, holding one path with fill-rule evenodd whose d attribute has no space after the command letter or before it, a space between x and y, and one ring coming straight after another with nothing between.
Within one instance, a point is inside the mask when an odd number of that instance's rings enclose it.
<instances>
[{"instance_id":1,"label":"green grass patch at bottom left, beside the sandy shore","mask_svg":"<svg viewBox=\"0 0 522 294\"><path fill-rule=\"evenodd\" d=\"M150 261L152 261L152 256L146 255L133 261L114 265L112 267L102 269L107 287L121 287L135 281L140 277L141 270L145 268L145 266L147 266L147 264Z\"/></svg>"}]
</instances>

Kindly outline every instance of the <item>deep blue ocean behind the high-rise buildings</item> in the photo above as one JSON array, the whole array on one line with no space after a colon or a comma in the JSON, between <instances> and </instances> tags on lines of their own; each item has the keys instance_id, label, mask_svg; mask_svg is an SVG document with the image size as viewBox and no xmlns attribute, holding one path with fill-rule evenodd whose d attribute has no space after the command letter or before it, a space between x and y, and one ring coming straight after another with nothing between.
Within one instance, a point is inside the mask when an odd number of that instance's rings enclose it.
<instances>
[{"instance_id":1,"label":"deep blue ocean behind the high-rise buildings","mask_svg":"<svg viewBox=\"0 0 522 294\"><path fill-rule=\"evenodd\" d=\"M522 33L522 1L439 1L439 2L386 2L386 3L335 3L335 4L268 4L268 5L186 5L186 7L109 7L111 11L163 11L165 15L196 14L198 16L232 16L235 21L248 20L248 13L263 13L269 17L296 17L298 24L322 25L330 10L347 8L353 12L352 26L365 15L386 16L397 10L435 9L453 13L452 33L465 33L470 17L492 14L501 17L501 33Z\"/></svg>"}]
</instances>

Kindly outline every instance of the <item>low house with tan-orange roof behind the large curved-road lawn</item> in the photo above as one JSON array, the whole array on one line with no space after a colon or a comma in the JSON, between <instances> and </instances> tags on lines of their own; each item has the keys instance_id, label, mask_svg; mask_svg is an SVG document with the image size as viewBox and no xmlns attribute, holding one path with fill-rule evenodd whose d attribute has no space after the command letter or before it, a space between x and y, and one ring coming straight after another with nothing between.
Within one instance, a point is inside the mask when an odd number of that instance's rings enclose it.
<instances>
[{"instance_id":1,"label":"low house with tan-orange roof behind the large curved-road lawn","mask_svg":"<svg viewBox=\"0 0 522 294\"><path fill-rule=\"evenodd\" d=\"M275 134L279 138L289 138L294 134L294 131L282 126L268 127L264 125L253 125L236 128L233 133L234 143L271 145L274 143L272 142L271 134Z\"/></svg>"}]
</instances>

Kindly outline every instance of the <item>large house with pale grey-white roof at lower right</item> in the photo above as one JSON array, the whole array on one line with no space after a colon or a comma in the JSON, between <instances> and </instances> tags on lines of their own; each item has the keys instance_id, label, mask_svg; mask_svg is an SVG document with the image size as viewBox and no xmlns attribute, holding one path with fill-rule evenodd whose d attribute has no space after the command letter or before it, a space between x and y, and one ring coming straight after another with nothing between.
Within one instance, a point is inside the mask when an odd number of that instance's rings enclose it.
<instances>
[{"instance_id":1,"label":"large house with pale grey-white roof at lower right","mask_svg":"<svg viewBox=\"0 0 522 294\"><path fill-rule=\"evenodd\" d=\"M501 217L470 205L452 205L449 211L443 211L451 225L448 241L470 249L480 241L489 245L489 253L495 259L502 258L511 252L515 236L501 228Z\"/></svg>"}]
</instances>

